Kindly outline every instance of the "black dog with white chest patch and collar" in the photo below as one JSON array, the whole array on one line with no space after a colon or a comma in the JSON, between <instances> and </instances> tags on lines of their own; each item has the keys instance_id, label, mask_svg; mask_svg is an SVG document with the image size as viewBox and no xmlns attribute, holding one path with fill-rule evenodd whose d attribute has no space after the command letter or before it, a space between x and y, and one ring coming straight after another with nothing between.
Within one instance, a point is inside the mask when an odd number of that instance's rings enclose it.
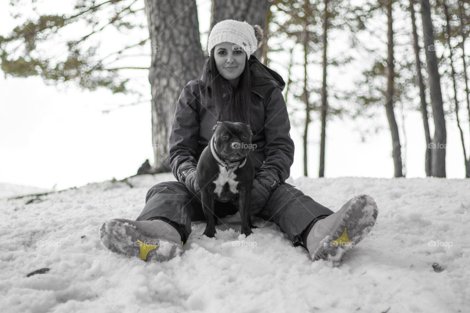
<instances>
[{"instance_id":1,"label":"black dog with white chest patch and collar","mask_svg":"<svg viewBox=\"0 0 470 313\"><path fill-rule=\"evenodd\" d=\"M253 163L248 155L252 148L250 126L243 123L217 122L208 146L197 163L197 178L206 230L214 237L214 201L234 201L241 216L241 233L252 234L250 207L251 188L255 179Z\"/></svg>"}]
</instances>

